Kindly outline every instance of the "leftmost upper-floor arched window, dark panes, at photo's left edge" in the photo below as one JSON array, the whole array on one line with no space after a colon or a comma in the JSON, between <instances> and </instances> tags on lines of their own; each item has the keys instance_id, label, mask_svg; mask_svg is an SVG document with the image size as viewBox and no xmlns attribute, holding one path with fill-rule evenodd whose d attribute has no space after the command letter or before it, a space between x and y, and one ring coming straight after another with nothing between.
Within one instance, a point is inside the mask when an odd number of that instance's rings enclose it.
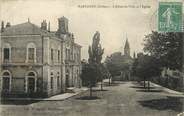
<instances>
[{"instance_id":1,"label":"leftmost upper-floor arched window, dark panes, at photo's left edge","mask_svg":"<svg viewBox=\"0 0 184 116\"><path fill-rule=\"evenodd\" d=\"M11 60L11 46L8 43L5 43L3 47L3 60L4 62L9 62Z\"/></svg>"}]
</instances>

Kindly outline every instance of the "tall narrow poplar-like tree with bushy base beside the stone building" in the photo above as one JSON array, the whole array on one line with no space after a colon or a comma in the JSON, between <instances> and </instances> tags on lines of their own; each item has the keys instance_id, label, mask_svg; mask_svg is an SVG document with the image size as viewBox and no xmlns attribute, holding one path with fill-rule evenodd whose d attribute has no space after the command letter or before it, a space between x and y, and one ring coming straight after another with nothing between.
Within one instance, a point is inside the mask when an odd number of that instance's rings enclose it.
<instances>
[{"instance_id":1,"label":"tall narrow poplar-like tree with bushy base beside the stone building","mask_svg":"<svg viewBox=\"0 0 184 116\"><path fill-rule=\"evenodd\" d=\"M90 97L92 97L92 87L97 81L103 82L102 75L102 55L104 49L102 49L100 44L100 33L97 31L93 36L92 45L89 46L88 63L83 67L82 79L87 82L90 87ZM102 88L102 87L101 87Z\"/></svg>"}]
</instances>

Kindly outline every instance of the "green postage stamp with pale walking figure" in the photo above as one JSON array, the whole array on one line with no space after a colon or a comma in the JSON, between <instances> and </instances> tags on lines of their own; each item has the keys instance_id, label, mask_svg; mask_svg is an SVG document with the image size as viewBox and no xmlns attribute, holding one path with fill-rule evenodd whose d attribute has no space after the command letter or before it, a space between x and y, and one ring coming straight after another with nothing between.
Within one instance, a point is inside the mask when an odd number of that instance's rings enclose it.
<instances>
[{"instance_id":1,"label":"green postage stamp with pale walking figure","mask_svg":"<svg viewBox=\"0 0 184 116\"><path fill-rule=\"evenodd\" d=\"M158 8L158 31L182 31L182 3L160 2Z\"/></svg>"}]
</instances>

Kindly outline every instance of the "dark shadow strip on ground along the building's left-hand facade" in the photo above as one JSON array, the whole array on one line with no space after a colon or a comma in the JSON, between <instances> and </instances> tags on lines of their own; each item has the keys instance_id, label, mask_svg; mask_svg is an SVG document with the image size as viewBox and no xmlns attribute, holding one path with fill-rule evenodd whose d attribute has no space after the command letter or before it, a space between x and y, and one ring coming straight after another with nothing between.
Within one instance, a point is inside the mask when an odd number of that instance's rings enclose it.
<instances>
[{"instance_id":1,"label":"dark shadow strip on ground along the building's left-hand facade","mask_svg":"<svg viewBox=\"0 0 184 116\"><path fill-rule=\"evenodd\" d=\"M2 105L29 105L32 103L39 102L38 100L1 100Z\"/></svg>"}]
</instances>

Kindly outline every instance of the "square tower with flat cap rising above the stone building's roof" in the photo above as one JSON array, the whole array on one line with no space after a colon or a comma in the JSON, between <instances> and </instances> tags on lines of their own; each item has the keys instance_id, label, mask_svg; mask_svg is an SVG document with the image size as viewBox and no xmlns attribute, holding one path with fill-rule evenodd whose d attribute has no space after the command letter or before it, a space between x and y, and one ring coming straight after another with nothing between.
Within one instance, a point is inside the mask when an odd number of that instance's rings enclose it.
<instances>
[{"instance_id":1,"label":"square tower with flat cap rising above the stone building's roof","mask_svg":"<svg viewBox=\"0 0 184 116\"><path fill-rule=\"evenodd\" d=\"M68 19L64 16L58 19L58 33L66 34L68 33Z\"/></svg>"}]
</instances>

